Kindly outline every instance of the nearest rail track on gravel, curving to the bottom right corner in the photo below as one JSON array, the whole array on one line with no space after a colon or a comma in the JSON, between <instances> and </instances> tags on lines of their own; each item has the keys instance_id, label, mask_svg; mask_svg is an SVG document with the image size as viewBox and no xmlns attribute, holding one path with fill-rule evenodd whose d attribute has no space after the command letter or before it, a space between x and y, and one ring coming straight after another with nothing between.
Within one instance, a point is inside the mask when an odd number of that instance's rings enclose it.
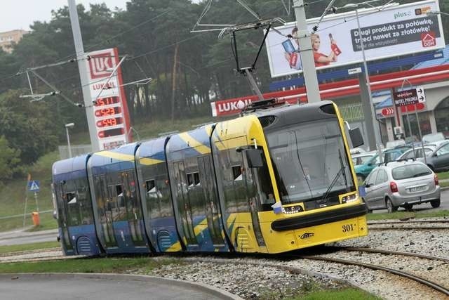
<instances>
[{"instance_id":1,"label":"nearest rail track on gravel, curving to the bottom right corner","mask_svg":"<svg viewBox=\"0 0 449 300\"><path fill-rule=\"evenodd\" d=\"M336 251L332 254L320 254L320 255L293 255L293 259L311 259L314 261L326 261L326 262L332 262L332 263L339 263L344 264L347 266L360 266L363 268L369 268L371 270L381 270L383 272L387 272L392 275L400 276L401 278L407 278L408 280L412 280L414 282L418 282L420 285L425 285L426 287L429 287L430 289L437 291L441 293L442 299L444 297L449 297L449 281L445 279L446 276L443 274L447 274L449 270L449 259L445 257L438 257L438 256L430 256L427 254L416 254L411 252L398 252L398 251L390 251L390 250L384 250L384 249L372 249L372 248L361 248L361 247L326 247L326 250ZM347 251L351 252L351 254L344 255L342 252ZM359 255L354 255L354 252L358 252ZM367 255L368 254L368 255ZM384 263L372 263L372 261L384 261L383 259L377 258L373 259L373 257L370 257L370 254L380 254L382 256L389 256L387 264L389 266L385 266ZM348 260L348 259L340 259L335 258L334 256L345 256L350 257L354 260ZM393 256L396 256L396 259L392 259ZM423 268L422 270L417 270L416 267L410 267L409 270L407 269L407 265L410 265L410 263L406 263L402 257L408 257L409 259L413 260L422 260L422 266L427 266L429 261L436 261L436 266L441 267L441 269L444 269L438 274L441 274L440 276L429 274L429 270L434 269L433 267ZM398 263L394 263L394 261L402 261L402 266ZM427 261L427 262L426 262ZM416 262L415 265L416 266ZM397 267L397 268L395 268ZM427 271L427 272L426 272ZM426 274L427 273L427 274ZM433 273L436 273L434 271ZM438 278L440 281L436 282L436 278ZM443 282L441 282L443 281ZM434 299L434 296L429 296L428 299Z\"/></svg>"}]
</instances>

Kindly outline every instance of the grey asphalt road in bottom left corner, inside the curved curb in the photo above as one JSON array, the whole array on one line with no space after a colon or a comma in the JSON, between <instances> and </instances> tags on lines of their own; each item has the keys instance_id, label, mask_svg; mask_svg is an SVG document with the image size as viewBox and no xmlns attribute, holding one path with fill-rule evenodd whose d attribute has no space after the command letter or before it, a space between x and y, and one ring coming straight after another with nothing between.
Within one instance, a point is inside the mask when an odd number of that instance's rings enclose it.
<instances>
[{"instance_id":1,"label":"grey asphalt road in bottom left corner, inside the curved curb","mask_svg":"<svg viewBox=\"0 0 449 300\"><path fill-rule=\"evenodd\" d=\"M1 299L239 299L206 285L138 275L0 274Z\"/></svg>"}]
</instances>

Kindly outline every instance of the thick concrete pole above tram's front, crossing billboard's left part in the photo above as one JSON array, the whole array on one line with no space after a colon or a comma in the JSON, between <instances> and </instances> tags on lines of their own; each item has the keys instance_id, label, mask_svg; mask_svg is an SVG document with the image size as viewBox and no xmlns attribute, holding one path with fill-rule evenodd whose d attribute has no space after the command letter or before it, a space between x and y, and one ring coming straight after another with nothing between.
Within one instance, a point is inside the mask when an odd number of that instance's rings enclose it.
<instances>
[{"instance_id":1,"label":"thick concrete pole above tram's front, crossing billboard's left part","mask_svg":"<svg viewBox=\"0 0 449 300\"><path fill-rule=\"evenodd\" d=\"M300 48L300 58L302 71L304 72L304 84L306 86L307 102L316 103L321 101L318 79L314 62L314 53L311 48L310 33L307 30L306 13L303 0L294 0L298 46Z\"/></svg>"}]
</instances>

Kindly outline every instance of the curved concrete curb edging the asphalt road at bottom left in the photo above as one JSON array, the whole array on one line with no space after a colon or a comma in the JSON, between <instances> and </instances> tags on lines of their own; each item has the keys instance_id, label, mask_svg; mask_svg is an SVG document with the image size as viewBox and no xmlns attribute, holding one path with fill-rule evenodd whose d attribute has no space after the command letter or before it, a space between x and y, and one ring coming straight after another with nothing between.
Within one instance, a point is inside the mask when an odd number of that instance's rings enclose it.
<instances>
[{"instance_id":1,"label":"curved concrete curb edging the asphalt road at bottom left","mask_svg":"<svg viewBox=\"0 0 449 300\"><path fill-rule=\"evenodd\" d=\"M91 278L104 280L135 280L142 282L149 282L154 284L177 285L180 287L187 287L196 289L197 291L216 296L220 299L226 300L243 300L243 298L231 294L224 289L218 289L210 285L205 285L200 282L189 282L186 280L168 279L149 275L128 275L128 274L113 274L113 273L9 273L0 274L0 280L11 278Z\"/></svg>"}]
</instances>

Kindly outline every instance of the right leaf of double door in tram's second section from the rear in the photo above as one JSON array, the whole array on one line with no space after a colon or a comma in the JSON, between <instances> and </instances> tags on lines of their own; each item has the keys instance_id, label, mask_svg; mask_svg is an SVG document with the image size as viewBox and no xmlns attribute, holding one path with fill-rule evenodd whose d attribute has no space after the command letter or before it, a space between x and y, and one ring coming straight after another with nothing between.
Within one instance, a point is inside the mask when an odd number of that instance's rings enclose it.
<instances>
[{"instance_id":1,"label":"right leaf of double door in tram's second section from the rear","mask_svg":"<svg viewBox=\"0 0 449 300\"><path fill-rule=\"evenodd\" d=\"M142 227L140 221L142 220L142 210L140 209L140 200L135 186L134 174L131 171L123 172L121 174L124 189L126 191L125 204L128 219L128 226L130 229L131 239L135 246L145 246L146 242L142 235Z\"/></svg>"}]
</instances>

